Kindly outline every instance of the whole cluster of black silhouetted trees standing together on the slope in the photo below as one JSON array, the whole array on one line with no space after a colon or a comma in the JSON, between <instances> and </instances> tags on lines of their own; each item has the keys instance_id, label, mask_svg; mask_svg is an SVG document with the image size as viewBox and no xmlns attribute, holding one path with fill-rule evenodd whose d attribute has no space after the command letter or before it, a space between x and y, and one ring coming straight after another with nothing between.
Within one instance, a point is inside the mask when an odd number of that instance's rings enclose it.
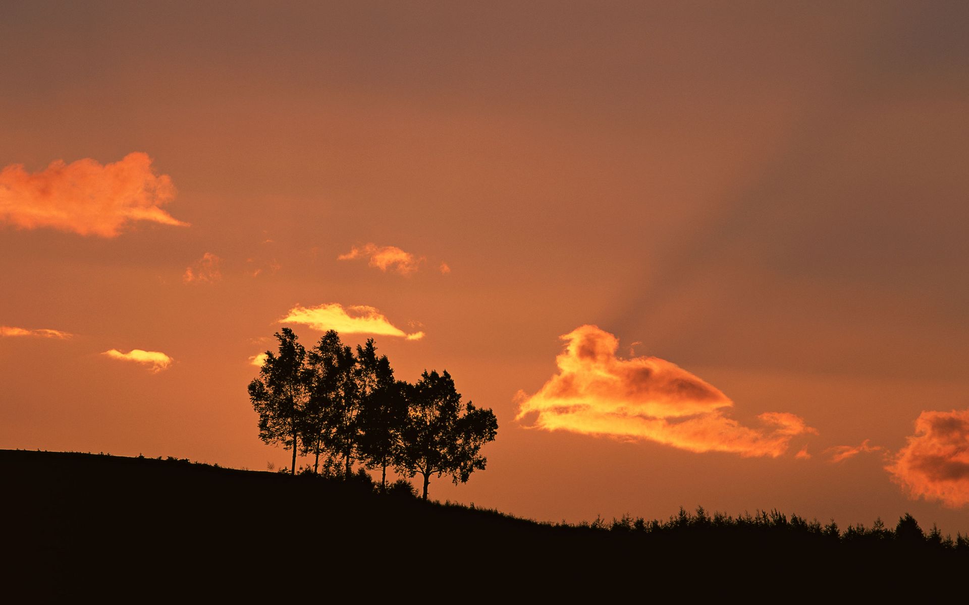
<instances>
[{"instance_id":1,"label":"whole cluster of black silhouetted trees standing together on the slope","mask_svg":"<svg viewBox=\"0 0 969 605\"><path fill-rule=\"evenodd\" d=\"M329 330L306 350L290 328L275 334L277 352L266 351L259 378L249 383L249 398L259 414L259 437L267 444L313 457L314 473L341 469L350 479L354 464L380 469L387 491L387 469L422 475L422 498L430 478L450 475L464 483L485 469L481 454L495 439L498 421L489 408L461 401L447 371L424 371L410 383L393 377L387 355L377 355L373 339L357 350Z\"/></svg>"}]
</instances>

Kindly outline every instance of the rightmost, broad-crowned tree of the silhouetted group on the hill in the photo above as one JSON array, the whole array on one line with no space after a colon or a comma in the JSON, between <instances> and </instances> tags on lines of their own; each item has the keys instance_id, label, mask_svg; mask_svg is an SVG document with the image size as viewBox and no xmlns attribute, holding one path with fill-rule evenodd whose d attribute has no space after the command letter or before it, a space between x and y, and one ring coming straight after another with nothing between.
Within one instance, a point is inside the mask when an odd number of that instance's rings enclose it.
<instances>
[{"instance_id":1,"label":"rightmost, broad-crowned tree of the silhouetted group on the hill","mask_svg":"<svg viewBox=\"0 0 969 605\"><path fill-rule=\"evenodd\" d=\"M461 402L451 375L428 374L406 389L408 418L401 432L396 467L402 473L423 477L422 498L434 474L450 474L454 484L464 483L475 469L485 469L481 447L495 438L498 421L490 409Z\"/></svg>"}]
</instances>

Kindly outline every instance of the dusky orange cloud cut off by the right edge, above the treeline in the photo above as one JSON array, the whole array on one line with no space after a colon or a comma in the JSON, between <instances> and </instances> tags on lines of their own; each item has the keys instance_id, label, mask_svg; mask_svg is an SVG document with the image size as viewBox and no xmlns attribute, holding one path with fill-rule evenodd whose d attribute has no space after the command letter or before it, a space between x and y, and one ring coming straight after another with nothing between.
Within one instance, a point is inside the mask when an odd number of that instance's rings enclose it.
<instances>
[{"instance_id":1,"label":"dusky orange cloud cut off by the right edge, above the treeline","mask_svg":"<svg viewBox=\"0 0 969 605\"><path fill-rule=\"evenodd\" d=\"M913 499L969 504L969 409L923 411L885 469Z\"/></svg>"}]
</instances>

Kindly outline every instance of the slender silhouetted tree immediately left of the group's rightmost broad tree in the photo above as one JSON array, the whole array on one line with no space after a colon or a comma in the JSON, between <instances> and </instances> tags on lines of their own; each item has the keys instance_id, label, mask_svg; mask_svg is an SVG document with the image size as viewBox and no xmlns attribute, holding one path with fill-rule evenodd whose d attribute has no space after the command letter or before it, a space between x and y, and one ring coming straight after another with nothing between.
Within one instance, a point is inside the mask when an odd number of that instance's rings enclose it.
<instances>
[{"instance_id":1,"label":"slender silhouetted tree immediately left of the group's rightmost broad tree","mask_svg":"<svg viewBox=\"0 0 969 605\"><path fill-rule=\"evenodd\" d=\"M357 347L358 393L361 408L359 454L368 469L381 469L380 489L387 491L387 468L400 446L400 432L407 420L406 383L393 379L387 355L377 357L373 340Z\"/></svg>"}]
</instances>

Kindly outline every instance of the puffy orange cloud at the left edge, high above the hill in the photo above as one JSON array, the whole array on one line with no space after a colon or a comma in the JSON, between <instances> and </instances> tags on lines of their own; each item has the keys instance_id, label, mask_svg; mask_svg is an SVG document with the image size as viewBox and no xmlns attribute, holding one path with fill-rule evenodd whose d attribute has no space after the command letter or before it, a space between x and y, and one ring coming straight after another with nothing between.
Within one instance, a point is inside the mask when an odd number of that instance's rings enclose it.
<instances>
[{"instance_id":1,"label":"puffy orange cloud at the left edge, high above the hill","mask_svg":"<svg viewBox=\"0 0 969 605\"><path fill-rule=\"evenodd\" d=\"M172 179L156 175L143 153L105 166L58 160L33 174L14 164L0 170L0 224L101 237L114 237L135 221L187 226L161 209L174 196Z\"/></svg>"}]
</instances>

